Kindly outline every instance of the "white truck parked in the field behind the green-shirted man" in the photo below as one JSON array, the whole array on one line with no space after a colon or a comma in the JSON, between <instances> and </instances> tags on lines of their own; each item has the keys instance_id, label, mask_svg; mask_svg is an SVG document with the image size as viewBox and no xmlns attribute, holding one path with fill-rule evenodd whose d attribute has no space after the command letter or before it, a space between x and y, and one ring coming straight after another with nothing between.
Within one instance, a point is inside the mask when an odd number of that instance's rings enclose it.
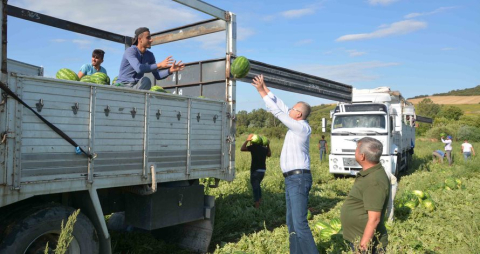
<instances>
[{"instance_id":1,"label":"white truck parked in the field behind the green-shirted man","mask_svg":"<svg viewBox=\"0 0 480 254\"><path fill-rule=\"evenodd\" d=\"M398 175L409 166L415 146L415 108L388 87L353 89L352 102L337 104L331 112L330 173L356 175L356 142L372 137L383 144L380 162Z\"/></svg>"}]
</instances>

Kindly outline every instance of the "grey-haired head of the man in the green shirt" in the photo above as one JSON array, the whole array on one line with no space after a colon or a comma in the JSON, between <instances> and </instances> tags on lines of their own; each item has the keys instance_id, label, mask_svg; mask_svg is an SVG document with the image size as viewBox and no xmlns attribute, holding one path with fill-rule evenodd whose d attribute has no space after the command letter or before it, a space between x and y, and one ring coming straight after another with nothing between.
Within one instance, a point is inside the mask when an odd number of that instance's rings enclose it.
<instances>
[{"instance_id":1,"label":"grey-haired head of the man in the green shirt","mask_svg":"<svg viewBox=\"0 0 480 254\"><path fill-rule=\"evenodd\" d=\"M362 166L365 164L378 164L382 151L383 145L380 141L370 137L362 138L357 142L355 160Z\"/></svg>"}]
</instances>

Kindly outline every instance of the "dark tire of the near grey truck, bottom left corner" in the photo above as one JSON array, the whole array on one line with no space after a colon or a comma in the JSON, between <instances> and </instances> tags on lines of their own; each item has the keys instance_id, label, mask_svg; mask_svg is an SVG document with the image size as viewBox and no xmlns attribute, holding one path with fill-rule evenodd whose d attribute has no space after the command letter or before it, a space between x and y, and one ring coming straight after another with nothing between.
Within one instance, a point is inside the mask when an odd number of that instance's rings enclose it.
<instances>
[{"instance_id":1,"label":"dark tire of the near grey truck, bottom left corner","mask_svg":"<svg viewBox=\"0 0 480 254\"><path fill-rule=\"evenodd\" d=\"M44 253L47 242L50 250L55 249L62 221L65 226L74 211L71 207L50 204L19 212L7 222L8 230L3 235L0 254ZM74 238L67 253L99 253L97 232L82 213L77 216L72 235Z\"/></svg>"}]
</instances>

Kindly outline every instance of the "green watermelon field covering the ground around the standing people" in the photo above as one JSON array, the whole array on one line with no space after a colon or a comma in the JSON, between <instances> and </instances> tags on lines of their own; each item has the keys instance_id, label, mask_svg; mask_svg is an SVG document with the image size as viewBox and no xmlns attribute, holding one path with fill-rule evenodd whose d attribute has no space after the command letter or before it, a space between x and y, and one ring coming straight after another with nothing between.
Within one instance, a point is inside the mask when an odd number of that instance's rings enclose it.
<instances>
[{"instance_id":1,"label":"green watermelon field covering the ground around the standing people","mask_svg":"<svg viewBox=\"0 0 480 254\"><path fill-rule=\"evenodd\" d=\"M237 144L245 140L239 137ZM310 192L310 207L314 218L312 231L321 253L342 253L341 239L320 238L316 222L339 217L353 178L335 179L328 173L328 164L320 164L316 146L318 136L310 145L314 184ZM480 144L473 144L480 147ZM216 196L215 230L211 252L214 253L288 253L288 233L285 225L284 178L279 168L282 140L272 139L272 157L267 160L267 174L262 182L263 204L253 207L249 182L249 153L240 152L237 145L236 178L209 189ZM417 141L413 166L401 177L397 197L408 190L428 190L436 210L424 208L412 211L397 209L395 222L389 227L389 253L478 253L480 250L480 159L464 163L454 143L454 166L432 164L431 153L443 147L440 143ZM480 149L480 148L479 148ZM462 180L465 189L445 190L438 183L454 176ZM188 253L175 246L156 241L148 234L114 234L115 253Z\"/></svg>"}]
</instances>

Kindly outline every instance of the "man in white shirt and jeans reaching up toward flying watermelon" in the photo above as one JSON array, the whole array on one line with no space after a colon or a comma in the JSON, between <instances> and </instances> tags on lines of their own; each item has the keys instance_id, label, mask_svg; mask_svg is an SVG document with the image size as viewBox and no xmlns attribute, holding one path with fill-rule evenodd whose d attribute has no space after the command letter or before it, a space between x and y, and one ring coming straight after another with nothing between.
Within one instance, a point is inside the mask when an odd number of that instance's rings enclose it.
<instances>
[{"instance_id":1,"label":"man in white shirt and jeans reaching up toward flying watermelon","mask_svg":"<svg viewBox=\"0 0 480 254\"><path fill-rule=\"evenodd\" d=\"M290 253L318 253L307 221L308 193L312 187L309 154L312 129L306 120L310 105L297 102L289 109L267 88L263 75L256 76L252 85L262 96L268 111L288 128L280 154L280 168L285 177Z\"/></svg>"}]
</instances>

